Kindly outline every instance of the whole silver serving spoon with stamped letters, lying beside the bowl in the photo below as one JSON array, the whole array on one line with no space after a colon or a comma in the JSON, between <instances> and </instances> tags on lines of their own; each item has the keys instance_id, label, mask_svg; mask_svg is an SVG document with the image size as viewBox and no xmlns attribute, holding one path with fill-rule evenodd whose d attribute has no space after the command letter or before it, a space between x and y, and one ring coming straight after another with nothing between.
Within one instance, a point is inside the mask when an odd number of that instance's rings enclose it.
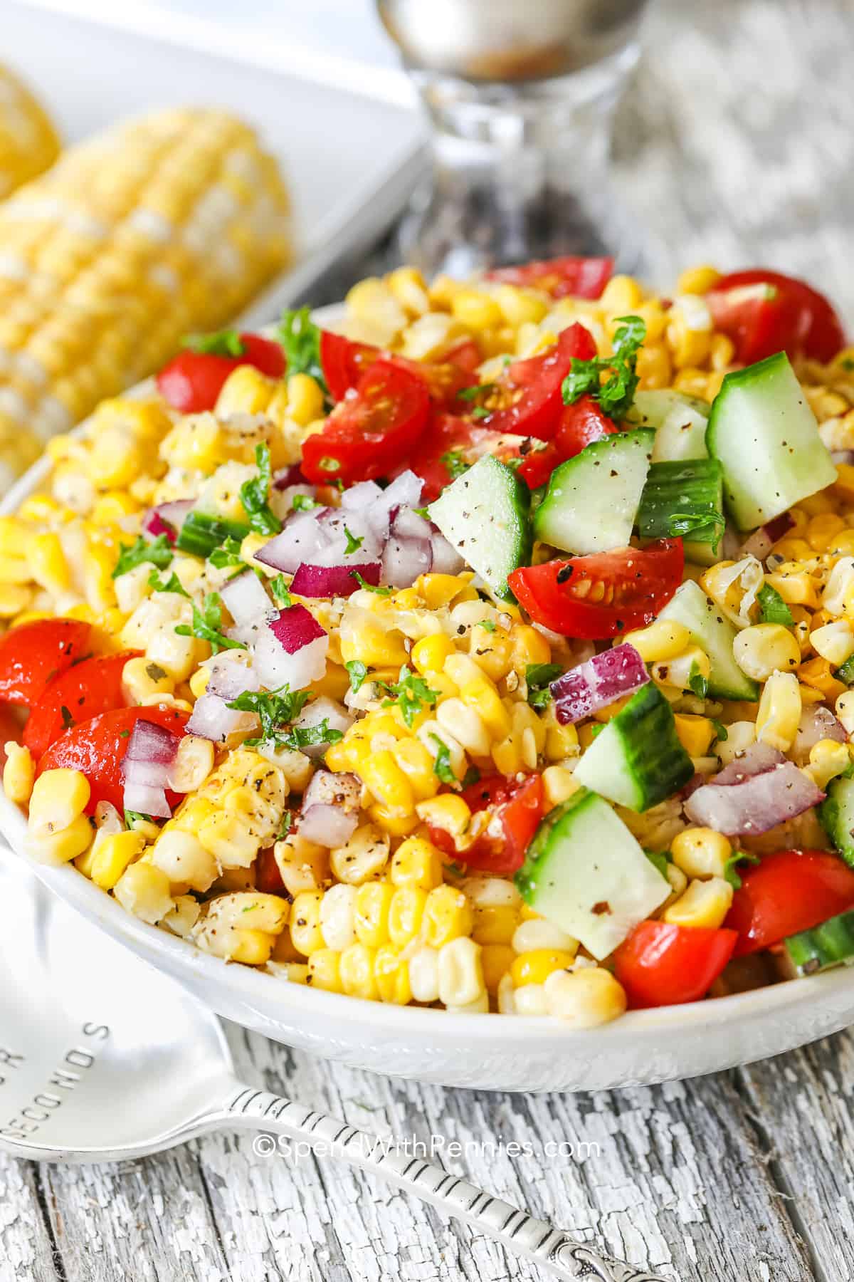
<instances>
[{"instance_id":1,"label":"whole silver serving spoon with stamped letters, lying beside the bowl","mask_svg":"<svg viewBox=\"0 0 854 1282\"><path fill-rule=\"evenodd\" d=\"M497 1237L561 1278L666 1282L384 1138L234 1076L219 1020L93 929L15 856L0 856L0 1147L42 1161L114 1161L220 1127L316 1146Z\"/></svg>"}]
</instances>

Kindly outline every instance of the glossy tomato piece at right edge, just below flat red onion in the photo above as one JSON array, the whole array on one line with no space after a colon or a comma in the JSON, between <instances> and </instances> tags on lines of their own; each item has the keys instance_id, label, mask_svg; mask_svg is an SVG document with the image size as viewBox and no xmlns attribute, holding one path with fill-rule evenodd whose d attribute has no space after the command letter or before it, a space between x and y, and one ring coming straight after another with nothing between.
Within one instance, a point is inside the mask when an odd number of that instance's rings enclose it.
<instances>
[{"instance_id":1,"label":"glossy tomato piece at right edge, just below flat red onion","mask_svg":"<svg viewBox=\"0 0 854 1282\"><path fill-rule=\"evenodd\" d=\"M740 876L723 923L739 933L736 956L854 908L854 869L827 850L780 850Z\"/></svg>"}]
</instances>

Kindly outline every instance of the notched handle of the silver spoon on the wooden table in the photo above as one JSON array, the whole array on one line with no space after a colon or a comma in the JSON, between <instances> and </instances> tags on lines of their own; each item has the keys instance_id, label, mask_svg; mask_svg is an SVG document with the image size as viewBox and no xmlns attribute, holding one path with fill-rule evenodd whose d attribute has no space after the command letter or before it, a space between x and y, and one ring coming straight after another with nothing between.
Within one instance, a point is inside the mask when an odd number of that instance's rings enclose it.
<instances>
[{"instance_id":1,"label":"notched handle of the silver spoon on the wooden table","mask_svg":"<svg viewBox=\"0 0 854 1282\"><path fill-rule=\"evenodd\" d=\"M534 1260L565 1279L593 1282L672 1282L647 1273L632 1264L600 1255L592 1246L575 1241L544 1219L534 1219L510 1203L457 1179L442 1167L410 1153L401 1153L393 1140L369 1135L324 1113L306 1110L280 1095L236 1086L216 1120L251 1126L275 1136L306 1141L323 1153L342 1156L373 1174L383 1176L449 1215L475 1224L504 1242L512 1251ZM270 1150L277 1151L275 1149Z\"/></svg>"}]
</instances>

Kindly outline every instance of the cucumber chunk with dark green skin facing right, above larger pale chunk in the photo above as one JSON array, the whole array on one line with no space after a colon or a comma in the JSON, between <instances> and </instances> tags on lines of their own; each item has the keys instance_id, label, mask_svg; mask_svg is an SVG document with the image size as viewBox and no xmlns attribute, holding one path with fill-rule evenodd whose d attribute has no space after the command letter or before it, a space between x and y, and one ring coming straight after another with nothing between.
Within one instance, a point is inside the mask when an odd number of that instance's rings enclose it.
<instances>
[{"instance_id":1,"label":"cucumber chunk with dark green skin facing right, above larger pale chunk","mask_svg":"<svg viewBox=\"0 0 854 1282\"><path fill-rule=\"evenodd\" d=\"M677 792L693 774L671 706L650 681L599 731L574 777L629 810L648 810Z\"/></svg>"}]
</instances>

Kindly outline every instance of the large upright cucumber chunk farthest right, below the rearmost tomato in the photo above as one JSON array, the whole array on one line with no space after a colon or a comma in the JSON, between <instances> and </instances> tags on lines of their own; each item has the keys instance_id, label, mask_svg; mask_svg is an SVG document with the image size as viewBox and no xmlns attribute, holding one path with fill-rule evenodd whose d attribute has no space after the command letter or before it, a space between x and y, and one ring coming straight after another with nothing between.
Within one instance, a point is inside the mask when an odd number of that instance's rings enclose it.
<instances>
[{"instance_id":1,"label":"large upright cucumber chunk farthest right, below the rearmost tomato","mask_svg":"<svg viewBox=\"0 0 854 1282\"><path fill-rule=\"evenodd\" d=\"M723 499L754 529L836 481L816 415L785 353L727 374L705 433L723 464Z\"/></svg>"}]
</instances>

